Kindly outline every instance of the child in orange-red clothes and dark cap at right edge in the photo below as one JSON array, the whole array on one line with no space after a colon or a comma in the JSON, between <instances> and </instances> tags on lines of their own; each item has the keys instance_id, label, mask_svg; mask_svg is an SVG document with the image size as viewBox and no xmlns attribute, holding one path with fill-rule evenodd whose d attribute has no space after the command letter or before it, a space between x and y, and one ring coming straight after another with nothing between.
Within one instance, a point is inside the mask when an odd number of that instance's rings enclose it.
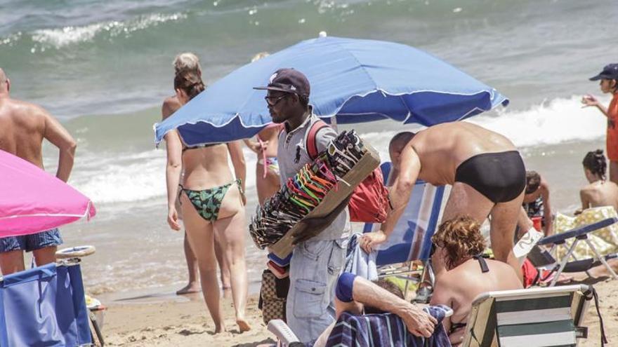
<instances>
[{"instance_id":1,"label":"child in orange-red clothes and dark cap at right edge","mask_svg":"<svg viewBox=\"0 0 618 347\"><path fill-rule=\"evenodd\" d=\"M610 159L610 181L618 184L618 64L608 64L603 71L591 77L590 81L599 81L603 93L612 93L612 101L605 108L592 95L584 95L581 103L584 107L594 106L607 117L607 158Z\"/></svg>"}]
</instances>

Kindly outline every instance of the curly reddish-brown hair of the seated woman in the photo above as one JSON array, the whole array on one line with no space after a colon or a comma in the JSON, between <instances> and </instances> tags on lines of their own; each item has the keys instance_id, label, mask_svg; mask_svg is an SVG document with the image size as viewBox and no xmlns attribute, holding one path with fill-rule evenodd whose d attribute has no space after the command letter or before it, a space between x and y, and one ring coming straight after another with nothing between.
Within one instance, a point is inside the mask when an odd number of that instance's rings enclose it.
<instances>
[{"instance_id":1,"label":"curly reddish-brown hair of the seated woman","mask_svg":"<svg viewBox=\"0 0 618 347\"><path fill-rule=\"evenodd\" d=\"M440 225L431 240L446 250L446 265L454 268L461 259L480 254L485 250L485 239L480 233L480 224L469 216L449 219Z\"/></svg>"}]
</instances>

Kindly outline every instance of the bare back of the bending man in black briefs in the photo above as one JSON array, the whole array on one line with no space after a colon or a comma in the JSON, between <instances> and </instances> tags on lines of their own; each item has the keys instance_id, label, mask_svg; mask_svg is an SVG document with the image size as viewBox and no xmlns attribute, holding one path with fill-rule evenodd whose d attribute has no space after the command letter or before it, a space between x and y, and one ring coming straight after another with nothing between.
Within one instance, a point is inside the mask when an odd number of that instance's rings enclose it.
<instances>
[{"instance_id":1,"label":"bare back of the bending man in black briefs","mask_svg":"<svg viewBox=\"0 0 618 347\"><path fill-rule=\"evenodd\" d=\"M477 154L514 151L506 137L466 122L444 123L416 133L409 142L421 161L419 179L454 184L459 164Z\"/></svg>"}]
</instances>

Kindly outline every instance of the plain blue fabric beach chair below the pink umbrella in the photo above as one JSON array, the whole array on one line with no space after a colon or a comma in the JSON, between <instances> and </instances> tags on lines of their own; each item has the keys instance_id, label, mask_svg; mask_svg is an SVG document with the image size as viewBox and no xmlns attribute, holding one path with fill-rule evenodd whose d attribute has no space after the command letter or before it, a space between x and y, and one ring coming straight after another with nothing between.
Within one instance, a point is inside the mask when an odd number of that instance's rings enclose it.
<instances>
[{"instance_id":1,"label":"plain blue fabric beach chair below the pink umbrella","mask_svg":"<svg viewBox=\"0 0 618 347\"><path fill-rule=\"evenodd\" d=\"M78 261L0 278L0 346L91 346Z\"/></svg>"}]
</instances>

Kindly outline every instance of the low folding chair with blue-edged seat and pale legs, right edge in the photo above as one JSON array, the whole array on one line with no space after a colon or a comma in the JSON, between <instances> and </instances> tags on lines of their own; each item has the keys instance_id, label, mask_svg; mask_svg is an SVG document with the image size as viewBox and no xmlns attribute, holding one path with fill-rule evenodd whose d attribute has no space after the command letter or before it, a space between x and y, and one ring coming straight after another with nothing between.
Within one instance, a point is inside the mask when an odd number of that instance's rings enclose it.
<instances>
[{"instance_id":1,"label":"low folding chair with blue-edged seat and pale legs, right edge","mask_svg":"<svg viewBox=\"0 0 618 347\"><path fill-rule=\"evenodd\" d=\"M528 259L532 261L532 264L542 270L549 270L554 275L553 280L551 280L550 287L555 285L556 281L560 276L560 273L572 273L579 271L588 271L593 266L599 266L603 264L607 271L612 275L612 278L616 279L618 276L612 269L612 267L607 264L607 260L618 257L617 254L600 254L596 249L594 243L591 243L588 234L593 231L597 231L605 228L606 226L610 226L614 223L618 222L618 219L615 217L603 219L599 222L588 224L586 226L580 226L579 228L572 229L570 231L565 231L564 233L558 233L552 236L548 236L546 238L541 238L537 243L537 247L534 247L533 250L528 254ZM572 241L570 246L567 246L567 241ZM590 249L593 251L595 256L590 259L577 259L573 251L579 242L585 242ZM551 245L551 249L549 251L544 250L542 247L538 247L539 245ZM555 259L553 254L555 254L555 250L558 247L565 247L567 252L562 257L562 259ZM574 261L569 261L570 259L574 259ZM546 276L547 277L547 276Z\"/></svg>"}]
</instances>

